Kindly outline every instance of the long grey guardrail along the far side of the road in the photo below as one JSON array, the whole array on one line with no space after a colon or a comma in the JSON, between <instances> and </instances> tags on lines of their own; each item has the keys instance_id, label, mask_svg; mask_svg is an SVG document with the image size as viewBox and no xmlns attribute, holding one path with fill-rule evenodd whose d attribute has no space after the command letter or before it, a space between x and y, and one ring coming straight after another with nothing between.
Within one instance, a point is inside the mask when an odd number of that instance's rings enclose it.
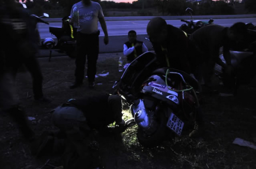
<instances>
[{"instance_id":1,"label":"long grey guardrail along the far side of the road","mask_svg":"<svg viewBox=\"0 0 256 169\"><path fill-rule=\"evenodd\" d=\"M123 21L123 20L150 20L155 16L126 16L126 17L104 17L106 21ZM190 16L160 16L165 20L190 19ZM256 14L247 15L205 15L193 16L194 19L231 19L231 18L256 18ZM46 22L61 22L62 18L44 18Z\"/></svg>"}]
</instances>

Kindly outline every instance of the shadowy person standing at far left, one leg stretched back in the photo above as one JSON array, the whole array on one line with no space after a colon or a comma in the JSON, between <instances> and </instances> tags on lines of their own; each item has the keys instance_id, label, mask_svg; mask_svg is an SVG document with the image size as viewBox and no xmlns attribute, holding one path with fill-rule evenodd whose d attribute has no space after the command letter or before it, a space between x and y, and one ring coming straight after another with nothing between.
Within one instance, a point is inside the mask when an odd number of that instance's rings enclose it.
<instances>
[{"instance_id":1,"label":"shadowy person standing at far left, one leg stretched back","mask_svg":"<svg viewBox=\"0 0 256 169\"><path fill-rule=\"evenodd\" d=\"M4 39L7 40L2 46L5 51L5 55L2 56L5 68L8 68L15 79L18 70L24 65L33 80L34 99L49 102L50 100L43 95L43 75L36 58L40 37L36 31L37 25L22 4L10 0L5 1L2 7L3 25L1 29L3 29L3 36L6 36Z\"/></svg>"}]
</instances>

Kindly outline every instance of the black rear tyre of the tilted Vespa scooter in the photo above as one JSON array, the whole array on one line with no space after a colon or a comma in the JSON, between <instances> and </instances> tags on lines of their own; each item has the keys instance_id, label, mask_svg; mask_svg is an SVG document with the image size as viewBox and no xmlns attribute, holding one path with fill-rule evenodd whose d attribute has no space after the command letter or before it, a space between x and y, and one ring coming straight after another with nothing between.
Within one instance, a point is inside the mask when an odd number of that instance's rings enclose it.
<instances>
[{"instance_id":1,"label":"black rear tyre of the tilted Vespa scooter","mask_svg":"<svg viewBox=\"0 0 256 169\"><path fill-rule=\"evenodd\" d=\"M159 113L159 127L152 135L147 136L140 127L137 130L137 139L144 147L156 147L168 136L166 127L167 118L163 112Z\"/></svg>"}]
</instances>

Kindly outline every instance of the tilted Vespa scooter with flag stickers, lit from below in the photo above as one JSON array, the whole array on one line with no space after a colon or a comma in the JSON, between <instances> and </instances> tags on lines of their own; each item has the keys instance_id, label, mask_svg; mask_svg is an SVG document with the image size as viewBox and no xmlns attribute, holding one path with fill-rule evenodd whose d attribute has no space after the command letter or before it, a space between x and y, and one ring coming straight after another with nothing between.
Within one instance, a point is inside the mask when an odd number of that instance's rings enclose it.
<instances>
[{"instance_id":1,"label":"tilted Vespa scooter with flag stickers, lit from below","mask_svg":"<svg viewBox=\"0 0 256 169\"><path fill-rule=\"evenodd\" d=\"M161 67L155 53L132 61L113 88L131 106L134 118L126 126L138 125L143 146L157 146L172 133L181 135L184 125L195 120L198 82L185 72Z\"/></svg>"}]
</instances>

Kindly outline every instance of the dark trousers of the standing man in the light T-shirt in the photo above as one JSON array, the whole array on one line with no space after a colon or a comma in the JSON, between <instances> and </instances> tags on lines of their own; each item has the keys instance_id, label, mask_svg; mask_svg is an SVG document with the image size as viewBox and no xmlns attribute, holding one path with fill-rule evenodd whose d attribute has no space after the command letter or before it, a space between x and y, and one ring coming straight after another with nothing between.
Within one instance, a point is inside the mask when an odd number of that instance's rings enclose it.
<instances>
[{"instance_id":1,"label":"dark trousers of the standing man in the light T-shirt","mask_svg":"<svg viewBox=\"0 0 256 169\"><path fill-rule=\"evenodd\" d=\"M93 82L96 75L96 64L99 54L99 35L95 34L83 34L77 32L77 58L75 61L75 82L82 83L84 79L84 69L87 55L87 76L88 81Z\"/></svg>"}]
</instances>

